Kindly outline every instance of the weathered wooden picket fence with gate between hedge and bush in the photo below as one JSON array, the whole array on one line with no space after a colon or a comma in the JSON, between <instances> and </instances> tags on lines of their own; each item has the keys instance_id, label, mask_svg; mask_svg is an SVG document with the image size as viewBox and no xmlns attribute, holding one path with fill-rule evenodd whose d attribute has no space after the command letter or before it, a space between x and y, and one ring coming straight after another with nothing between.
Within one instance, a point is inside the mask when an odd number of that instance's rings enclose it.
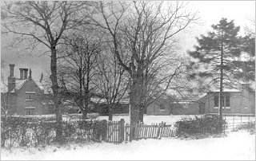
<instances>
[{"instance_id":1,"label":"weathered wooden picket fence with gate between hedge and bush","mask_svg":"<svg viewBox=\"0 0 256 161\"><path fill-rule=\"evenodd\" d=\"M162 137L175 137L178 126L175 124L125 124L125 121L109 121L107 124L108 143L122 143L138 139L161 139Z\"/></svg>"}]
</instances>

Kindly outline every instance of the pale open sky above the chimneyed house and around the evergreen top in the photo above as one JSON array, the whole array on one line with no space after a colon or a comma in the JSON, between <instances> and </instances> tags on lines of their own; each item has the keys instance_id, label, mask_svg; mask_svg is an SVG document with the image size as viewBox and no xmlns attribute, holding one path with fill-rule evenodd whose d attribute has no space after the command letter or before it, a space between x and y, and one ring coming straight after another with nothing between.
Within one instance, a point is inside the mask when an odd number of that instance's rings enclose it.
<instances>
[{"instance_id":1,"label":"pale open sky above the chimneyed house and around the evergreen top","mask_svg":"<svg viewBox=\"0 0 256 161\"><path fill-rule=\"evenodd\" d=\"M200 34L206 34L211 29L212 24L217 24L221 18L234 20L236 26L243 28L250 26L250 18L255 16L254 1L186 1L188 6L194 11L198 11L200 24L190 26L183 33L180 33L178 39L181 49L179 53L185 54L186 50L193 49L196 44L195 38ZM35 80L40 78L41 73L46 76L46 71L50 71L50 57L39 57L38 51L27 54L24 50L26 46L11 46L14 37L2 35L1 37L1 59L5 61L5 71L9 76L9 64L15 64L14 76L19 77L19 68L31 68L32 77ZM33 56L33 57L32 57Z\"/></svg>"}]
</instances>

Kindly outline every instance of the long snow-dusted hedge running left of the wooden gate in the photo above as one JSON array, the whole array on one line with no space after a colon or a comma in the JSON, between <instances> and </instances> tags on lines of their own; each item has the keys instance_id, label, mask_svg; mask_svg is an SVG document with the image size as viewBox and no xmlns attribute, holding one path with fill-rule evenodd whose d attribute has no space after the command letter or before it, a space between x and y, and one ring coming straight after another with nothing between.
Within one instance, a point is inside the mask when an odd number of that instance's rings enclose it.
<instances>
[{"instance_id":1,"label":"long snow-dusted hedge running left of the wooden gate","mask_svg":"<svg viewBox=\"0 0 256 161\"><path fill-rule=\"evenodd\" d=\"M84 140L104 140L106 120L63 121L64 142ZM25 120L12 118L2 120L2 147L30 147L54 143L55 121Z\"/></svg>"}]
</instances>

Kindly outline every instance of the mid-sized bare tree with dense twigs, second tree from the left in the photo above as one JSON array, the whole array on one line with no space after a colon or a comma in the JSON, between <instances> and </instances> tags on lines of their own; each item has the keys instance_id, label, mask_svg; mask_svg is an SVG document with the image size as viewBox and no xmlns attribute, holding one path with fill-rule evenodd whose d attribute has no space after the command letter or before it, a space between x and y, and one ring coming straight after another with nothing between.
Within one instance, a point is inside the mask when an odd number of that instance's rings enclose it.
<instances>
[{"instance_id":1,"label":"mid-sized bare tree with dense twigs, second tree from the left","mask_svg":"<svg viewBox=\"0 0 256 161\"><path fill-rule=\"evenodd\" d=\"M86 118L90 97L96 85L94 77L98 56L102 53L102 38L94 30L71 32L62 45L59 80Z\"/></svg>"}]
</instances>

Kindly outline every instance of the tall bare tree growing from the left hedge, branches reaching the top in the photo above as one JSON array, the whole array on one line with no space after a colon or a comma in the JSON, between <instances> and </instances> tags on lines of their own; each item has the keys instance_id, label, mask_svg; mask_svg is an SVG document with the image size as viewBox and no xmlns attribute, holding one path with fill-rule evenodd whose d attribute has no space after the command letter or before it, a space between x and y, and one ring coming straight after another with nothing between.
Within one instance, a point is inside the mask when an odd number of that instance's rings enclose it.
<instances>
[{"instance_id":1,"label":"tall bare tree growing from the left hedge, branches reaching the top","mask_svg":"<svg viewBox=\"0 0 256 161\"><path fill-rule=\"evenodd\" d=\"M26 40L32 38L33 45L43 44L50 49L50 80L54 92L54 108L58 126L56 139L62 141L62 114L57 78L57 46L66 30L74 29L83 19L79 12L89 2L6 2L2 7L2 33L15 33ZM80 13L81 14L81 13Z\"/></svg>"}]
</instances>

